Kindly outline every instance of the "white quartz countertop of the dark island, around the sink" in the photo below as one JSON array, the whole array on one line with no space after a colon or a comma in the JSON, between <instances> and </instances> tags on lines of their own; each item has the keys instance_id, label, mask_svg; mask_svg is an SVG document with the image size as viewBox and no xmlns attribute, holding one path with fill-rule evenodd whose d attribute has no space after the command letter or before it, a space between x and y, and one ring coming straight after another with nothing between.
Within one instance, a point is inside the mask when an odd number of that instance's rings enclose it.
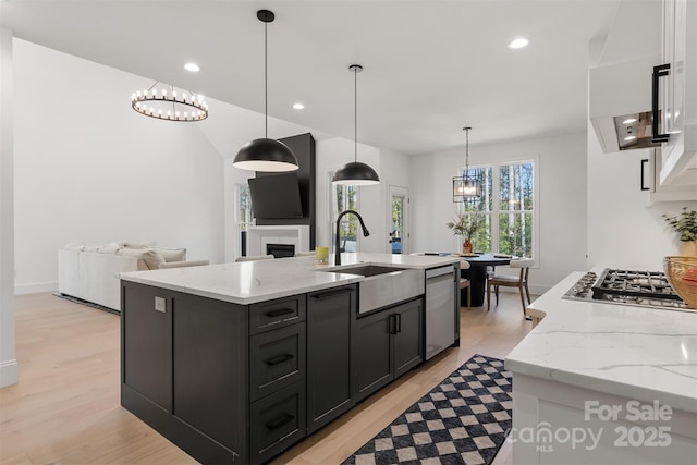
<instances>
[{"instance_id":1,"label":"white quartz countertop of the dark island, around the sink","mask_svg":"<svg viewBox=\"0 0 697 465\"><path fill-rule=\"evenodd\" d=\"M185 292L218 301L247 305L289 295L360 282L364 277L323 272L355 265L389 265L429 269L460 261L460 257L390 254L341 254L342 265L318 265L315 257L290 257L272 260L243 261L201 267L121 273L121 279ZM333 257L329 257L333 264Z\"/></svg>"}]
</instances>

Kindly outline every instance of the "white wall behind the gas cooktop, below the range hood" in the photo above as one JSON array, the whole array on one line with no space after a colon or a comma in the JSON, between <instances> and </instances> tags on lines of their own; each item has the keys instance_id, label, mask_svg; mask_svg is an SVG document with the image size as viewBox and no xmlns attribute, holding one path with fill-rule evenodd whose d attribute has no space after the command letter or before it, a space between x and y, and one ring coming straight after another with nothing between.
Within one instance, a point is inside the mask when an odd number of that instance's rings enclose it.
<instances>
[{"instance_id":1,"label":"white wall behind the gas cooktop, below the range hood","mask_svg":"<svg viewBox=\"0 0 697 465\"><path fill-rule=\"evenodd\" d=\"M588 266L663 269L663 257L677 255L680 240L667 228L662 215L697 201L648 205L640 189L641 159L646 150L603 154L595 132L588 131Z\"/></svg>"}]
</instances>

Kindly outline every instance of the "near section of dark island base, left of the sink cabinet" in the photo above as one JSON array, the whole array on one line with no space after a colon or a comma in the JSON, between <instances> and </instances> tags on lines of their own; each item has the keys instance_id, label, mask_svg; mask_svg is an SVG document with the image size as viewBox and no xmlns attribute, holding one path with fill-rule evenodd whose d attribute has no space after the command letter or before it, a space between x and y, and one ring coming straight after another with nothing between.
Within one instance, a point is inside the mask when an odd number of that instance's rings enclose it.
<instances>
[{"instance_id":1,"label":"near section of dark island base, left of the sink cabinet","mask_svg":"<svg viewBox=\"0 0 697 465\"><path fill-rule=\"evenodd\" d=\"M203 463L262 463L355 405L356 285L237 305L122 281L121 404Z\"/></svg>"}]
</instances>

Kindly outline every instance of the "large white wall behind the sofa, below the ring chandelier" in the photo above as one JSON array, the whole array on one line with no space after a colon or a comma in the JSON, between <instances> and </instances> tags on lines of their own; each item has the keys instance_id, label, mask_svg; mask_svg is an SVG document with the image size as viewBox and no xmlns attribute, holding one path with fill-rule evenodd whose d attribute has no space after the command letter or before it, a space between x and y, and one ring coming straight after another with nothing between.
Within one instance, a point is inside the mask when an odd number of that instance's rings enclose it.
<instances>
[{"instance_id":1,"label":"large white wall behind the sofa, below the ring chandelier","mask_svg":"<svg viewBox=\"0 0 697 465\"><path fill-rule=\"evenodd\" d=\"M130 96L151 81L20 39L14 71L19 293L57 287L69 242L157 241L222 261L223 159L207 121L143 117Z\"/></svg>"}]
</instances>

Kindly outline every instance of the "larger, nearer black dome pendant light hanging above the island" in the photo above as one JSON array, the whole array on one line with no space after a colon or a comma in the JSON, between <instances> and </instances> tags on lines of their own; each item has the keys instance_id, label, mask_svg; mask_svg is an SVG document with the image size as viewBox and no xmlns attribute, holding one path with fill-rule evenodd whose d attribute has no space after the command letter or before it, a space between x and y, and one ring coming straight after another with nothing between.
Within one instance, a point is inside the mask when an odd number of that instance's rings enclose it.
<instances>
[{"instance_id":1,"label":"larger, nearer black dome pendant light hanging above the island","mask_svg":"<svg viewBox=\"0 0 697 465\"><path fill-rule=\"evenodd\" d=\"M268 108L268 60L267 60L267 24L276 17L269 10L257 11L257 17L264 23L264 118L265 138L248 142L240 149L232 166L249 171L295 171L298 168L297 158L282 142L270 139L269 108Z\"/></svg>"}]
</instances>

